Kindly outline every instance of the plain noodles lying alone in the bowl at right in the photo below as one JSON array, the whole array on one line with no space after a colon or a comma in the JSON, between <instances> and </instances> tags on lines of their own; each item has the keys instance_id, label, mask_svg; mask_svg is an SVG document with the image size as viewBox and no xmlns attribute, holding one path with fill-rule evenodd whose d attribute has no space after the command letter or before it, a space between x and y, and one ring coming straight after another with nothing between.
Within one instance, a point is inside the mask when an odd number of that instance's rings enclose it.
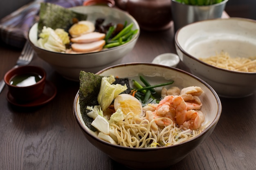
<instances>
[{"instance_id":1,"label":"plain noodles lying alone in the bowl at right","mask_svg":"<svg viewBox=\"0 0 256 170\"><path fill-rule=\"evenodd\" d=\"M240 72L256 72L256 57L254 58L245 58L245 57L236 57L232 58L228 53L221 52L220 54L216 53L215 56L200 58L203 62L211 64L213 66L224 68L231 71L240 71Z\"/></svg>"}]
</instances>

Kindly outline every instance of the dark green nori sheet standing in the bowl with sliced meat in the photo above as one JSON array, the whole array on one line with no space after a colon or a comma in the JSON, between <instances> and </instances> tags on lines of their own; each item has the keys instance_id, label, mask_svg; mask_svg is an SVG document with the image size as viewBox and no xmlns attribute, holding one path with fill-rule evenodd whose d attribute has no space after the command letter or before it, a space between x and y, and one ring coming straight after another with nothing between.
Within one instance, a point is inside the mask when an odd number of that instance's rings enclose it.
<instances>
[{"instance_id":1,"label":"dark green nori sheet standing in the bowl with sliced meat","mask_svg":"<svg viewBox=\"0 0 256 170\"><path fill-rule=\"evenodd\" d=\"M73 24L73 18L86 20L87 14L77 13L65 7L49 2L41 2L38 21L38 35L42 32L43 26L52 29L61 28L68 31Z\"/></svg>"}]
</instances>

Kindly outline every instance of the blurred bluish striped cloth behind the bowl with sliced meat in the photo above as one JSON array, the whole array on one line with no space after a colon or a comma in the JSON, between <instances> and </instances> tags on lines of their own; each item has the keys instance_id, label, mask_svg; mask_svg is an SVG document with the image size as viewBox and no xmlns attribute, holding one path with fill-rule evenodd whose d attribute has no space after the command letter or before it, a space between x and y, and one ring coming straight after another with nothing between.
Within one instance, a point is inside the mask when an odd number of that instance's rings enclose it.
<instances>
[{"instance_id":1,"label":"blurred bluish striped cloth behind the bowl with sliced meat","mask_svg":"<svg viewBox=\"0 0 256 170\"><path fill-rule=\"evenodd\" d=\"M31 26L38 21L41 2L50 2L62 7L75 7L84 0L34 0L0 20L0 39L8 45L22 48Z\"/></svg>"}]
</instances>

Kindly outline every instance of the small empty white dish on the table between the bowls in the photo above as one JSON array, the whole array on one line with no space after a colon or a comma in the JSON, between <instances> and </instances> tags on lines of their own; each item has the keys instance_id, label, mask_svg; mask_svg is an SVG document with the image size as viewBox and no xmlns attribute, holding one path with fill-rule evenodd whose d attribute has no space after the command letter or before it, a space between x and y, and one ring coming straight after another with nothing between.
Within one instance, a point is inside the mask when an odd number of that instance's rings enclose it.
<instances>
[{"instance_id":1,"label":"small empty white dish on the table between the bowls","mask_svg":"<svg viewBox=\"0 0 256 170\"><path fill-rule=\"evenodd\" d=\"M157 55L152 61L153 64L161 64L169 67L176 67L180 62L180 57L174 53L163 53Z\"/></svg>"}]
</instances>

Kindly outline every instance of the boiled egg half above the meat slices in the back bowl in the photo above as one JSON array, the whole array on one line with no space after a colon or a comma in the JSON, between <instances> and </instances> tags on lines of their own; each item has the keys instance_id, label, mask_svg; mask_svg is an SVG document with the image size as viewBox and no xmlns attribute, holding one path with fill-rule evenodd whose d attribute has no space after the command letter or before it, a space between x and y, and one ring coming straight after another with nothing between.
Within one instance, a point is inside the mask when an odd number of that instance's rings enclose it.
<instances>
[{"instance_id":1,"label":"boiled egg half above the meat slices in the back bowl","mask_svg":"<svg viewBox=\"0 0 256 170\"><path fill-rule=\"evenodd\" d=\"M91 33L95 30L95 26L90 21L79 21L76 24L72 25L68 32L74 37L78 37L80 35Z\"/></svg>"}]
</instances>

